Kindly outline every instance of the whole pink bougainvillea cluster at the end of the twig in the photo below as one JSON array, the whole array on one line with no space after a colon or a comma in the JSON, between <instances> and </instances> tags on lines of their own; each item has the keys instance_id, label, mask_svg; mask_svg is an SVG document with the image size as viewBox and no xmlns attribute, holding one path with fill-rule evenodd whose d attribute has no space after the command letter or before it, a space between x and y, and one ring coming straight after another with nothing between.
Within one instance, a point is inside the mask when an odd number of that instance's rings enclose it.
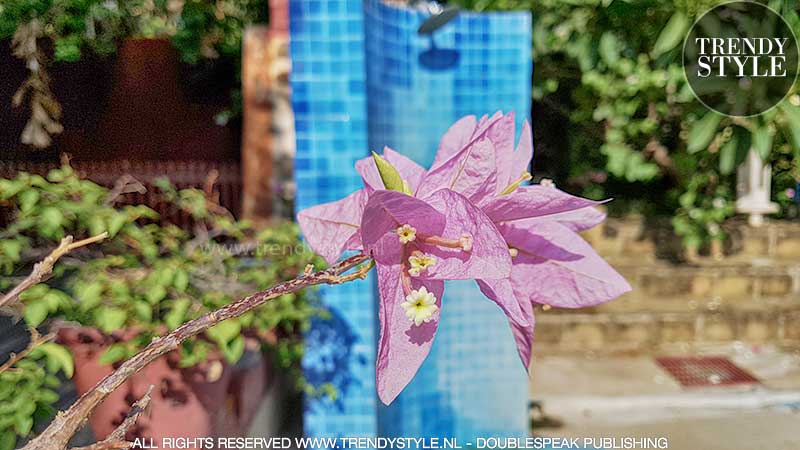
<instances>
[{"instance_id":1,"label":"whole pink bougainvillea cluster at the end of the twig","mask_svg":"<svg viewBox=\"0 0 800 450\"><path fill-rule=\"evenodd\" d=\"M552 183L527 185L533 156L513 114L456 122L425 170L385 148L356 163L364 189L301 211L309 245L329 263L363 251L377 265L378 395L391 403L430 351L445 280L474 279L508 316L527 367L536 304L589 306L630 289L577 232L602 222L598 202Z\"/></svg>"}]
</instances>

